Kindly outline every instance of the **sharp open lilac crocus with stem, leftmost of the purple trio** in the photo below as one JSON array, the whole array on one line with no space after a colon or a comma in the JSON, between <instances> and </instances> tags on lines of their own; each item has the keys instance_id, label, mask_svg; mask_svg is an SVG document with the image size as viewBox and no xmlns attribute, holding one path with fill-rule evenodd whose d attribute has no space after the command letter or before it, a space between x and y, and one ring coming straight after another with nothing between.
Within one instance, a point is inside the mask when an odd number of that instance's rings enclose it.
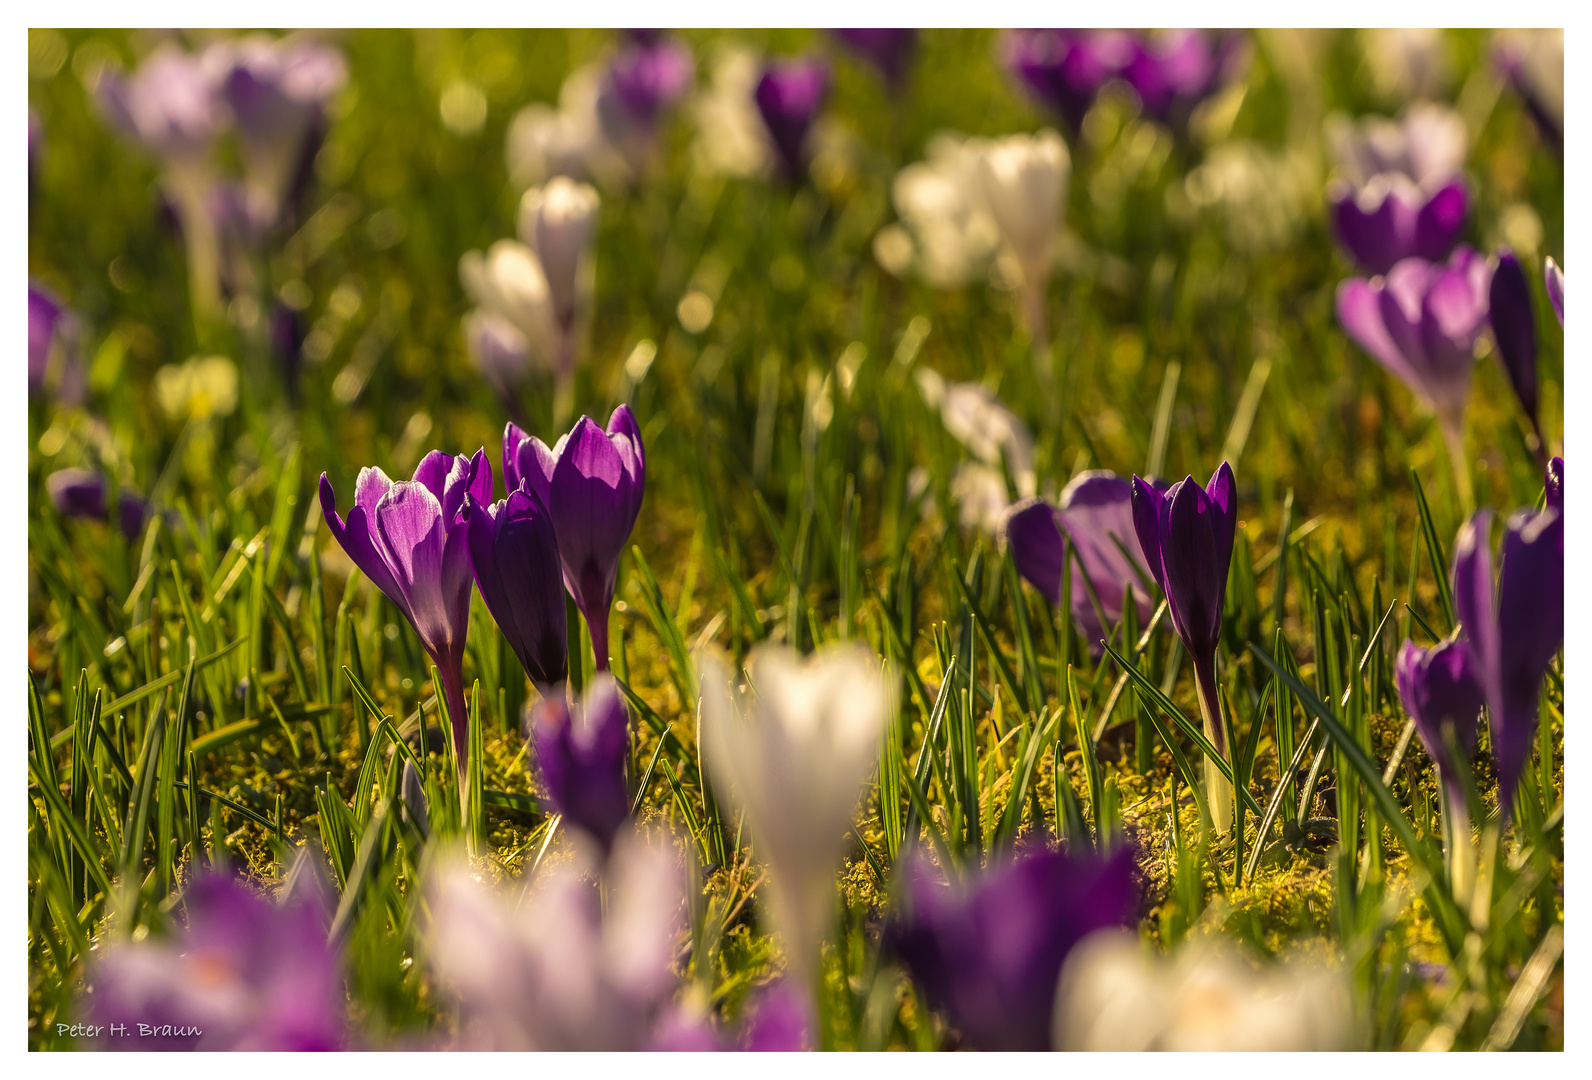
<instances>
[{"instance_id":1,"label":"sharp open lilac crocus with stem, leftmost of the purple trio","mask_svg":"<svg viewBox=\"0 0 1592 1080\"><path fill-rule=\"evenodd\" d=\"M470 728L463 672L473 581L463 524L466 497L478 503L492 497L486 451L474 457L431 451L416 467L414 479L396 483L379 468L361 468L347 522L338 515L331 479L320 475L320 510L331 535L403 612L436 664L460 771L468 760Z\"/></svg>"}]
</instances>

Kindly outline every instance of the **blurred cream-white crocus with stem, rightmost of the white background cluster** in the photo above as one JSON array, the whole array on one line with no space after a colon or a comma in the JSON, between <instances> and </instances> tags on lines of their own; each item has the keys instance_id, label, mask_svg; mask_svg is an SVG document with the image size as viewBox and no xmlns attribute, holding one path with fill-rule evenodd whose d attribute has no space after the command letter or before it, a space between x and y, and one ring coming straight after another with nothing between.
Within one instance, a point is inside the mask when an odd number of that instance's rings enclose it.
<instances>
[{"instance_id":1,"label":"blurred cream-white crocus with stem, rightmost of the white background cluster","mask_svg":"<svg viewBox=\"0 0 1592 1080\"><path fill-rule=\"evenodd\" d=\"M1006 135L981 156L984 202L1020 271L1024 317L1044 338L1044 288L1051 280L1055 231L1071 175L1067 143L1054 131Z\"/></svg>"}]
</instances>

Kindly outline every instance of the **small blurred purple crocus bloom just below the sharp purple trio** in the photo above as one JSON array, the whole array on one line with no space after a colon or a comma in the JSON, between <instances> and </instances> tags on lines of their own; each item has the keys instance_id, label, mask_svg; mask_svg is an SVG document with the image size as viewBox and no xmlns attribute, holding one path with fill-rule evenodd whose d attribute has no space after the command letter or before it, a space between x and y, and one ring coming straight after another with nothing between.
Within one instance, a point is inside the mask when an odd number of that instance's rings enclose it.
<instances>
[{"instance_id":1,"label":"small blurred purple crocus bloom just below the sharp purple trio","mask_svg":"<svg viewBox=\"0 0 1592 1080\"><path fill-rule=\"evenodd\" d=\"M530 728L552 804L608 852L630 817L630 793L624 790L630 717L613 677L597 675L575 709L562 695L543 698L532 709Z\"/></svg>"}]
</instances>

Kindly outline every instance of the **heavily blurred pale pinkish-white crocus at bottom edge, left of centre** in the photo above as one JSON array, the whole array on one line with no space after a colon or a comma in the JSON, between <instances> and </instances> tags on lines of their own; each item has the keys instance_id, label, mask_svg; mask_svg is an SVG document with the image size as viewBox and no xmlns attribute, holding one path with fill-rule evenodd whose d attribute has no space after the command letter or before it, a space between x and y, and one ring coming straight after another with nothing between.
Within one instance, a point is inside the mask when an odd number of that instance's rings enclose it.
<instances>
[{"instance_id":1,"label":"heavily blurred pale pinkish-white crocus at bottom edge, left of centre","mask_svg":"<svg viewBox=\"0 0 1592 1080\"><path fill-rule=\"evenodd\" d=\"M546 878L516 906L463 862L431 881L430 964L460 1007L460 1043L479 1050L642 1050L669 1012L685 922L680 852L626 833L605 876Z\"/></svg>"}]
</instances>

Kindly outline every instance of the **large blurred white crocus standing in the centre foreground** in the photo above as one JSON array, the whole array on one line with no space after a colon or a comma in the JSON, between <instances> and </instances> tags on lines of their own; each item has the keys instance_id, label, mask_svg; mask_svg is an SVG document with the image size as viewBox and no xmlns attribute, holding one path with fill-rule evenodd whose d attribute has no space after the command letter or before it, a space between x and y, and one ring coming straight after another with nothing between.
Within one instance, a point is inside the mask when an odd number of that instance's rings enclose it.
<instances>
[{"instance_id":1,"label":"large blurred white crocus standing in the centre foreground","mask_svg":"<svg viewBox=\"0 0 1592 1080\"><path fill-rule=\"evenodd\" d=\"M809 659L753 650L743 691L704 655L699 731L721 795L747 812L771 871L775 927L794 975L810 986L834 919L834 870L863 782L879 758L890 687L861 647Z\"/></svg>"}]
</instances>

